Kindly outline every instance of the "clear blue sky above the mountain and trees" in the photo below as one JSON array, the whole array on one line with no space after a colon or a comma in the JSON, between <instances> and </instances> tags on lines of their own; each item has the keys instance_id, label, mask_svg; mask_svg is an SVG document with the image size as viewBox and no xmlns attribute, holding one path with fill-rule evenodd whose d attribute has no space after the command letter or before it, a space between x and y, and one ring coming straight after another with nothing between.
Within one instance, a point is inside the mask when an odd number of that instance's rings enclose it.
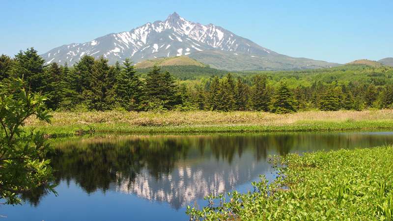
<instances>
[{"instance_id":1,"label":"clear blue sky above the mountain and trees","mask_svg":"<svg viewBox=\"0 0 393 221\"><path fill-rule=\"evenodd\" d=\"M393 57L393 0L0 0L0 54L28 47L43 54L174 11L284 55L339 63Z\"/></svg>"}]
</instances>

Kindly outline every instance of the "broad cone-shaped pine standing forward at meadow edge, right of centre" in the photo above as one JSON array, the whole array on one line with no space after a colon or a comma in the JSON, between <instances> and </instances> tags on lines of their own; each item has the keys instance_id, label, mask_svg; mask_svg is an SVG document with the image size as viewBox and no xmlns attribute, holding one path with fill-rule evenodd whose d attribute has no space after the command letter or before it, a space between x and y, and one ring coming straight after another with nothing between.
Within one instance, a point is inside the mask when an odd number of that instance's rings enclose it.
<instances>
[{"instance_id":1,"label":"broad cone-shaped pine standing forward at meadow edge, right of centre","mask_svg":"<svg viewBox=\"0 0 393 221\"><path fill-rule=\"evenodd\" d=\"M272 111L275 113L296 112L296 104L292 91L285 82L280 83L272 102Z\"/></svg>"}]
</instances>

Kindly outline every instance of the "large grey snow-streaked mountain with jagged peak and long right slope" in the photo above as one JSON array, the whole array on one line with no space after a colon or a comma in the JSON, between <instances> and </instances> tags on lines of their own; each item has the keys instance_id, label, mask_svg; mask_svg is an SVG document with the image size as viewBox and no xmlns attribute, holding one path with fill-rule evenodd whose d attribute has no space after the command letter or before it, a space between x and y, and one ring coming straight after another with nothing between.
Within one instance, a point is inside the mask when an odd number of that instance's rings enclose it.
<instances>
[{"instance_id":1,"label":"large grey snow-streaked mountain with jagged peak and long right slope","mask_svg":"<svg viewBox=\"0 0 393 221\"><path fill-rule=\"evenodd\" d=\"M185 20L176 12L165 21L147 23L130 31L111 33L86 43L63 45L42 56L47 63L73 64L83 55L103 55L110 63L189 55L225 70L308 69L335 63L278 54L224 28Z\"/></svg>"}]
</instances>

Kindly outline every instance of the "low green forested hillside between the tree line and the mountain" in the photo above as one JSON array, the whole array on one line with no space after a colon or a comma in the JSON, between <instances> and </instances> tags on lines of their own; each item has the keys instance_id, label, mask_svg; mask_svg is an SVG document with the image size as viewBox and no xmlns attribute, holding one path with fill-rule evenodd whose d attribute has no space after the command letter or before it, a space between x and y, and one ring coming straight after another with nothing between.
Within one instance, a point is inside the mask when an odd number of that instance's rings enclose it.
<instances>
[{"instance_id":1,"label":"low green forested hillside between the tree line and the mountain","mask_svg":"<svg viewBox=\"0 0 393 221\"><path fill-rule=\"evenodd\" d=\"M139 74L146 75L152 68L138 68ZM200 66L163 66L162 70L169 71L175 78L180 80L197 80L209 78L214 75L224 76L231 73L235 77L252 78L255 75L265 75L275 82L287 79L289 85L310 85L313 82L373 82L376 85L383 85L393 81L392 68L388 66L369 66L365 64L346 64L332 68L309 69L298 71L225 71L211 67Z\"/></svg>"}]
</instances>

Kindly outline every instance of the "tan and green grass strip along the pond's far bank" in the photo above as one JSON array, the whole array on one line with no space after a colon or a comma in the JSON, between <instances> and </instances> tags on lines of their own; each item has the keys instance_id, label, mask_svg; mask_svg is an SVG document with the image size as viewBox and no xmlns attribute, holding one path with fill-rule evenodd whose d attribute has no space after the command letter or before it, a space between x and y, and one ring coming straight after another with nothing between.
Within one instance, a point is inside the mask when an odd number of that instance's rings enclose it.
<instances>
[{"instance_id":1,"label":"tan and green grass strip along the pond's far bank","mask_svg":"<svg viewBox=\"0 0 393 221\"><path fill-rule=\"evenodd\" d=\"M393 110L305 111L274 114L252 111L54 112L52 123L26 121L50 137L95 133L166 134L225 132L296 132L392 129Z\"/></svg>"}]
</instances>

